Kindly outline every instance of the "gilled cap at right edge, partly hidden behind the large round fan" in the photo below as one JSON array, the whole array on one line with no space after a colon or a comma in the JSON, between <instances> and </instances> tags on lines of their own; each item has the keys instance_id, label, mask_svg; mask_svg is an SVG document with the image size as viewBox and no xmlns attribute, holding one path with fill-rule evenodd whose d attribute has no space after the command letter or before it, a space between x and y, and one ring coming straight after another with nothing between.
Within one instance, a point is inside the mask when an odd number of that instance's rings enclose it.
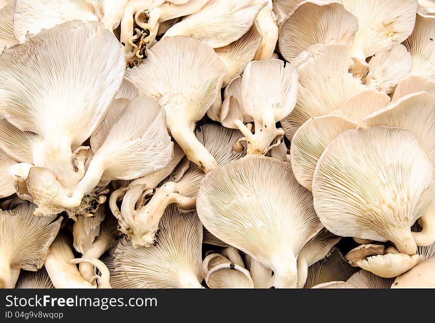
<instances>
[{"instance_id":1,"label":"gilled cap at right edge, partly hidden behind the large round fan","mask_svg":"<svg viewBox=\"0 0 435 323\"><path fill-rule=\"evenodd\" d=\"M367 116L363 123L368 127L386 126L410 130L435 161L434 107L435 95L413 93Z\"/></svg>"}]
</instances>

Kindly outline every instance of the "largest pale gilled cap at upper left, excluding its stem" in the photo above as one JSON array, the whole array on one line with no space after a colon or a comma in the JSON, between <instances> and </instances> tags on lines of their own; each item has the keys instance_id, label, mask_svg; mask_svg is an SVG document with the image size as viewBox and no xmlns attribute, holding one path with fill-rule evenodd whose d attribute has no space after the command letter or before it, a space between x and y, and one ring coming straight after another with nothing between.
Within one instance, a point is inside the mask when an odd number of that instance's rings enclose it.
<instances>
[{"instance_id":1,"label":"largest pale gilled cap at upper left, excluding its stem","mask_svg":"<svg viewBox=\"0 0 435 323\"><path fill-rule=\"evenodd\" d=\"M123 48L101 23L64 23L1 55L1 113L22 131L43 139L61 131L80 146L104 119L124 71Z\"/></svg>"}]
</instances>

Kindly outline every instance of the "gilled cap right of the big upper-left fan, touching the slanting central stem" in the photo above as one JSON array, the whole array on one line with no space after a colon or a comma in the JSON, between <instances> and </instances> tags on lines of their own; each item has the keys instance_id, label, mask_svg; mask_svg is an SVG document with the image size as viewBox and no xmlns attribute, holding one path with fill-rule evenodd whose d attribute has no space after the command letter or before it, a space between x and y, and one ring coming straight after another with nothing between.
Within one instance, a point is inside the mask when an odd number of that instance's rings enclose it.
<instances>
[{"instance_id":1,"label":"gilled cap right of the big upper-left fan, touching the slanting central stem","mask_svg":"<svg viewBox=\"0 0 435 323\"><path fill-rule=\"evenodd\" d=\"M163 169L172 157L173 143L159 104L137 97L114 120L104 143L92 150L93 159L105 161L102 181L136 179Z\"/></svg>"}]
</instances>

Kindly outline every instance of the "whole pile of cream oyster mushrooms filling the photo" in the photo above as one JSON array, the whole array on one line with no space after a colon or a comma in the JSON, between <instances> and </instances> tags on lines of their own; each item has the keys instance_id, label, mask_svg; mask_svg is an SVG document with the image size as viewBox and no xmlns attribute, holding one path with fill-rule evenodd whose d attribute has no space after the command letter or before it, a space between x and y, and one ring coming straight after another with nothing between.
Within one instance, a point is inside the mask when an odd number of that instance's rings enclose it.
<instances>
[{"instance_id":1,"label":"whole pile of cream oyster mushrooms filling the photo","mask_svg":"<svg viewBox=\"0 0 435 323\"><path fill-rule=\"evenodd\" d=\"M1 0L0 287L435 287L435 1Z\"/></svg>"}]
</instances>

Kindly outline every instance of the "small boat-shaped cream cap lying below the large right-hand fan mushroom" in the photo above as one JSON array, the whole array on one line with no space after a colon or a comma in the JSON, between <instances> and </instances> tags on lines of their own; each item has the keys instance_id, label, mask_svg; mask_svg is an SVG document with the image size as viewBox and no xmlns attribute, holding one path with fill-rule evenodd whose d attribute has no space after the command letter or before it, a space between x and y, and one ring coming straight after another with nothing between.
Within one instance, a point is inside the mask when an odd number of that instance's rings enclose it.
<instances>
[{"instance_id":1,"label":"small boat-shaped cream cap lying below the large right-hand fan mushroom","mask_svg":"<svg viewBox=\"0 0 435 323\"><path fill-rule=\"evenodd\" d=\"M356 261L358 267L384 278L394 278L408 271L421 261L419 254L387 253Z\"/></svg>"}]
</instances>

